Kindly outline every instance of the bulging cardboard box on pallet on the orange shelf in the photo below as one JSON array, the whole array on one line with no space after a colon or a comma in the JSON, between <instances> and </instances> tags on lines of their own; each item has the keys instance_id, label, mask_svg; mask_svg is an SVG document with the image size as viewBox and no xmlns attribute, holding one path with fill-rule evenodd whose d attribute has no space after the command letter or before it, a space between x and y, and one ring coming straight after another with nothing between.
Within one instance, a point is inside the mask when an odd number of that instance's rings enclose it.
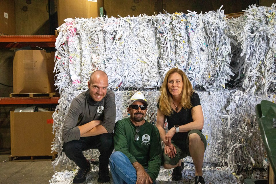
<instances>
[{"instance_id":1,"label":"bulging cardboard box on pallet on the orange shelf","mask_svg":"<svg viewBox=\"0 0 276 184\"><path fill-rule=\"evenodd\" d=\"M16 51L13 66L14 93L55 92L55 52Z\"/></svg>"}]
</instances>

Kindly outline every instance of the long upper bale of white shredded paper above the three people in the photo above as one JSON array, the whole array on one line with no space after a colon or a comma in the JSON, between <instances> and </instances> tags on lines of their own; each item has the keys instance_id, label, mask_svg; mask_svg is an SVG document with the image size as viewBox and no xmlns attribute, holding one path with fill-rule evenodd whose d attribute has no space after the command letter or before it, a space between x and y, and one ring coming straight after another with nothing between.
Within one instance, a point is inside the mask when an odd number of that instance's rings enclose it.
<instances>
[{"instance_id":1,"label":"long upper bale of white shredded paper above the three people","mask_svg":"<svg viewBox=\"0 0 276 184\"><path fill-rule=\"evenodd\" d=\"M85 89L91 72L104 70L110 89L156 89L179 67L195 88L225 88L233 75L226 28L221 10L67 19L58 28L56 85Z\"/></svg>"}]
</instances>

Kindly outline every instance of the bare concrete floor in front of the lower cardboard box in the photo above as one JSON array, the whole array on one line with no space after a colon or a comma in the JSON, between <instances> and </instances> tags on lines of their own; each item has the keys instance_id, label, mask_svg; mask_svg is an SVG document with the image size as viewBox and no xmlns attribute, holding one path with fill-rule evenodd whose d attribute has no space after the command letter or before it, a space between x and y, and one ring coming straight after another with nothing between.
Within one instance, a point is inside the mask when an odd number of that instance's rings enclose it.
<instances>
[{"instance_id":1,"label":"bare concrete floor in front of the lower cardboard box","mask_svg":"<svg viewBox=\"0 0 276 184\"><path fill-rule=\"evenodd\" d=\"M49 183L54 171L52 161L9 161L10 154L0 154L0 184Z\"/></svg>"}]
</instances>

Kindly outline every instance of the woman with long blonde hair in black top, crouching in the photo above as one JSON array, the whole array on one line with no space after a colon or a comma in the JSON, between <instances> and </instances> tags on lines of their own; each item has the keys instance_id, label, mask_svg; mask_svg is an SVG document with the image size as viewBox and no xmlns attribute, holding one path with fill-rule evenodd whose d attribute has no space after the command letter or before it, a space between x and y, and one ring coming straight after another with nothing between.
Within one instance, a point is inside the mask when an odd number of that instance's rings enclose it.
<instances>
[{"instance_id":1,"label":"woman with long blonde hair in black top, crouching","mask_svg":"<svg viewBox=\"0 0 276 184\"><path fill-rule=\"evenodd\" d=\"M202 165L206 139L201 133L204 120L199 96L178 68L167 72L160 91L156 127L165 143L162 165L165 169L174 168L172 179L179 181L184 167L182 159L191 156L196 168L195 184L204 184ZM168 133L164 129L166 119Z\"/></svg>"}]
</instances>

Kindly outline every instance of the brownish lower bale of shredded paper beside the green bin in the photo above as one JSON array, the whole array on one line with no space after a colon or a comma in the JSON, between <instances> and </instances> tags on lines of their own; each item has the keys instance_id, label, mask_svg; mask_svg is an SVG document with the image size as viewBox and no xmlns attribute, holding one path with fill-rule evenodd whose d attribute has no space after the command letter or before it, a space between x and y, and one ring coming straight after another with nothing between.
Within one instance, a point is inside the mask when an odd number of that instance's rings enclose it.
<instances>
[{"instance_id":1,"label":"brownish lower bale of shredded paper beside the green bin","mask_svg":"<svg viewBox=\"0 0 276 184\"><path fill-rule=\"evenodd\" d=\"M223 125L220 133L223 147L218 152L223 155L224 160L227 158L229 167L239 171L245 168L267 167L267 156L256 122L255 106L261 100L275 102L275 97L275 93L257 96L246 95L242 91L230 95L225 116L227 124Z\"/></svg>"}]
</instances>

